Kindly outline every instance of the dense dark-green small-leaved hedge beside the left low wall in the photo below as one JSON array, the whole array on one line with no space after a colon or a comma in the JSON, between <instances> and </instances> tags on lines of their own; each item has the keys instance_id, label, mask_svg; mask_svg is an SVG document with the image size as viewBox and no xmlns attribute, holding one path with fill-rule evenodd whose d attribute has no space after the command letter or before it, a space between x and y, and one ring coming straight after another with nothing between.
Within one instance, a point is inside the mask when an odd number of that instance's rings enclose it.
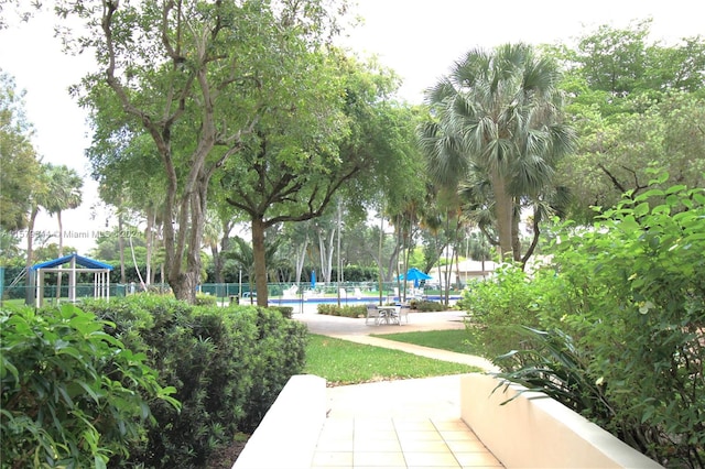
<instances>
[{"instance_id":1,"label":"dense dark-green small-leaved hedge beside the left low wall","mask_svg":"<svg viewBox=\"0 0 705 469\"><path fill-rule=\"evenodd\" d=\"M304 367L305 325L257 306L189 306L134 295L86 307L110 318L110 334L143 351L160 382L176 389L176 414L154 408L158 427L122 465L189 467L238 432L251 432L292 374Z\"/></svg>"}]
</instances>

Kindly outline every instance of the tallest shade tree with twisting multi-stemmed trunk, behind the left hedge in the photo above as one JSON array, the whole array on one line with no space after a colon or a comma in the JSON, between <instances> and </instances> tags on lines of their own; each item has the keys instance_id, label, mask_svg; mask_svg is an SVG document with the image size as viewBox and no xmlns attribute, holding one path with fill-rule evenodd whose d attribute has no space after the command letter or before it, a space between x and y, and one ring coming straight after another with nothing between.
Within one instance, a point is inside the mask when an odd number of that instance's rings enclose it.
<instances>
[{"instance_id":1,"label":"tallest shade tree with twisting multi-stemmed trunk, behind the left hedge","mask_svg":"<svg viewBox=\"0 0 705 469\"><path fill-rule=\"evenodd\" d=\"M97 134L109 142L149 135L159 157L163 178L145 188L165 194L165 268L176 297L195 301L213 175L243 148L245 135L272 106L297 105L291 64L308 57L335 30L337 11L330 14L326 6L316 0L57 2L62 15L85 20L88 33L74 36L73 44L93 48L100 66L83 83L83 102L112 117L96 120L109 126Z\"/></svg>"}]
</instances>

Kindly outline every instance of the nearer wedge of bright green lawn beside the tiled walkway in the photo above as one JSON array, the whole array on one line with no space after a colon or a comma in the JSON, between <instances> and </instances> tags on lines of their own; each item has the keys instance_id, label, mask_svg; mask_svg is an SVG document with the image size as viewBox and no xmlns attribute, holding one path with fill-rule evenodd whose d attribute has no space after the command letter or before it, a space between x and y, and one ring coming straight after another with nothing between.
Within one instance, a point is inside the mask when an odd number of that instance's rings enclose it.
<instances>
[{"instance_id":1,"label":"nearer wedge of bright green lawn beside the tiled walkway","mask_svg":"<svg viewBox=\"0 0 705 469\"><path fill-rule=\"evenodd\" d=\"M306 346L304 371L325 378L329 385L344 385L463 374L480 370L466 364L312 334Z\"/></svg>"}]
</instances>

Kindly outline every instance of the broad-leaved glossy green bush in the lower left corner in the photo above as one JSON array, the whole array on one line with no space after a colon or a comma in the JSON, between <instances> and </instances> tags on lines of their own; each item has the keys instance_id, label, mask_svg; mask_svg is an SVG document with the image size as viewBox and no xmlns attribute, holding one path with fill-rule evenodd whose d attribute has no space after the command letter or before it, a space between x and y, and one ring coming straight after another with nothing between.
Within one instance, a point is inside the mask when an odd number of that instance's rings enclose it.
<instances>
[{"instance_id":1,"label":"broad-leaved glossy green bush in the lower left corner","mask_svg":"<svg viewBox=\"0 0 705 469\"><path fill-rule=\"evenodd\" d=\"M2 467L106 467L127 457L154 421L150 405L178 404L112 325L73 305L1 309Z\"/></svg>"}]
</instances>

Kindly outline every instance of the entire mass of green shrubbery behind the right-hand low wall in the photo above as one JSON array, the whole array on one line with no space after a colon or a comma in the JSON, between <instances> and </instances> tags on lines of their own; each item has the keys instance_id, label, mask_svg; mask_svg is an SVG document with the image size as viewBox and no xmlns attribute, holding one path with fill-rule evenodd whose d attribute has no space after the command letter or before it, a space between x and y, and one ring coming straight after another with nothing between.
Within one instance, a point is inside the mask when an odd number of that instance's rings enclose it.
<instances>
[{"instance_id":1,"label":"entire mass of green shrubbery behind the right-hand low wall","mask_svg":"<svg viewBox=\"0 0 705 469\"><path fill-rule=\"evenodd\" d=\"M490 343L509 315L509 353L488 356L505 377L664 466L704 467L703 189L627 196L590 229L568 223L558 237L550 265L500 272L466 294L470 332Z\"/></svg>"}]
</instances>

